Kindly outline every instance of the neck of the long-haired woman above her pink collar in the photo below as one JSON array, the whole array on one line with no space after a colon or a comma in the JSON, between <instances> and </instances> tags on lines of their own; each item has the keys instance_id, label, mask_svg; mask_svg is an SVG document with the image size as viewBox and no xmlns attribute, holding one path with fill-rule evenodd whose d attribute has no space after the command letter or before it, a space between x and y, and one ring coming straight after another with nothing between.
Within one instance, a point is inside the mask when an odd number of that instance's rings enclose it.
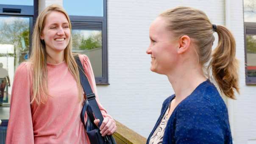
<instances>
[{"instance_id":1,"label":"neck of the long-haired woman above her pink collar","mask_svg":"<svg viewBox=\"0 0 256 144\"><path fill-rule=\"evenodd\" d=\"M59 64L64 61L64 51L55 52L55 51L47 51L47 63L50 64Z\"/></svg>"}]
</instances>

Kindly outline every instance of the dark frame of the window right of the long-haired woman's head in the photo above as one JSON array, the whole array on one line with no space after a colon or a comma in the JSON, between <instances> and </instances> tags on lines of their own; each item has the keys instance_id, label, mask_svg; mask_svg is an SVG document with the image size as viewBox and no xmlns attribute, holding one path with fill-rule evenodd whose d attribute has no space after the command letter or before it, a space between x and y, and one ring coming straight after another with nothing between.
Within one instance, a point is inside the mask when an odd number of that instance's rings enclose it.
<instances>
[{"instance_id":1,"label":"dark frame of the window right of the long-haired woman's head","mask_svg":"<svg viewBox=\"0 0 256 144\"><path fill-rule=\"evenodd\" d=\"M103 17L70 15L72 30L102 30L102 77L95 77L97 85L109 85L107 0L103 0ZM82 24L82 25L81 25Z\"/></svg>"}]
</instances>

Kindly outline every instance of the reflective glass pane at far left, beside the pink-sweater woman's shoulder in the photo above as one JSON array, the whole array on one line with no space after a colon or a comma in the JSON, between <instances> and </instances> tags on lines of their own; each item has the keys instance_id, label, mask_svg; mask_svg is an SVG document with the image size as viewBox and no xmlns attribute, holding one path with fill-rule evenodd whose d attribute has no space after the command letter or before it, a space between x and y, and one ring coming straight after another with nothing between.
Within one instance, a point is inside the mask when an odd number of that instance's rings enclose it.
<instances>
[{"instance_id":1,"label":"reflective glass pane at far left, beside the pink-sweater woman's shoulder","mask_svg":"<svg viewBox=\"0 0 256 144\"><path fill-rule=\"evenodd\" d=\"M0 94L9 103L14 72L29 54L29 17L0 17Z\"/></svg>"}]
</instances>

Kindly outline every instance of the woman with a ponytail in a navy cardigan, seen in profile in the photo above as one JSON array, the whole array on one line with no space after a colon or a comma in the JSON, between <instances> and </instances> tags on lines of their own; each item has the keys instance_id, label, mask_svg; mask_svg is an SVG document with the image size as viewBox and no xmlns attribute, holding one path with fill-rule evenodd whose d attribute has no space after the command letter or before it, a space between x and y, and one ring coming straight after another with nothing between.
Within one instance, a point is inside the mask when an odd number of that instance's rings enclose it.
<instances>
[{"instance_id":1,"label":"woman with a ponytail in a navy cardigan, seen in profile","mask_svg":"<svg viewBox=\"0 0 256 144\"><path fill-rule=\"evenodd\" d=\"M212 51L215 32L219 39ZM147 144L232 144L221 97L235 99L239 92L231 32L203 11L176 7L153 21L149 35L150 69L166 75L175 94L164 101Z\"/></svg>"}]
</instances>

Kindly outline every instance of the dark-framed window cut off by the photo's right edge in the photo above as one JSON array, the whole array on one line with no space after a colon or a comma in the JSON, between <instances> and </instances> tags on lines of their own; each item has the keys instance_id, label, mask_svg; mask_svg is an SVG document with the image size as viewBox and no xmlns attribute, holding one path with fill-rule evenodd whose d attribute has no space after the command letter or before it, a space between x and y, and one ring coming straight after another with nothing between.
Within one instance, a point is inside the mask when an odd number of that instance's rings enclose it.
<instances>
[{"instance_id":1,"label":"dark-framed window cut off by the photo's right edge","mask_svg":"<svg viewBox=\"0 0 256 144\"><path fill-rule=\"evenodd\" d=\"M256 84L256 1L244 0L245 80Z\"/></svg>"}]
</instances>

